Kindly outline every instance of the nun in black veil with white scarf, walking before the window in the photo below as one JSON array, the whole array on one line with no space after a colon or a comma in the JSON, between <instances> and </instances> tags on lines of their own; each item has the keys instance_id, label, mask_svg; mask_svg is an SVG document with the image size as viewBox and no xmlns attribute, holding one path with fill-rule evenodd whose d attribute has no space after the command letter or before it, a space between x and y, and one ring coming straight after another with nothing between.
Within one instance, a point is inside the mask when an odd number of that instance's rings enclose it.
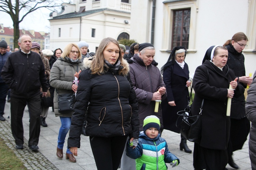
<instances>
[{"instance_id":1,"label":"nun in black veil with white scarf, walking before the window","mask_svg":"<svg viewBox=\"0 0 256 170\"><path fill-rule=\"evenodd\" d=\"M184 62L186 49L182 46L174 47L167 63L161 68L163 82L166 84L167 98L161 102L163 129L180 133L181 127L176 127L177 112L188 105L189 70ZM180 150L192 153L187 147L187 139L181 135Z\"/></svg>"}]
</instances>

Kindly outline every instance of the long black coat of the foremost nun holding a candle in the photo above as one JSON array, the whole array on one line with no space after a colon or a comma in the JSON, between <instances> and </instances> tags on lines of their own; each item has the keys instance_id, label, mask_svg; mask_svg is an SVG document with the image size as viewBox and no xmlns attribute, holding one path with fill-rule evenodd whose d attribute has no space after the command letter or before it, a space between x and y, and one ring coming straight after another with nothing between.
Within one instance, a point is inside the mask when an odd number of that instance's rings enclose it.
<instances>
[{"instance_id":1,"label":"long black coat of the foremost nun holding a candle","mask_svg":"<svg viewBox=\"0 0 256 170\"><path fill-rule=\"evenodd\" d=\"M203 148L227 149L230 131L230 117L226 116L229 83L235 79L234 71L228 66L223 71L210 61L198 66L193 78L195 98L191 114L198 115L202 100L202 133L199 145ZM243 86L238 83L234 96L243 93Z\"/></svg>"}]
</instances>

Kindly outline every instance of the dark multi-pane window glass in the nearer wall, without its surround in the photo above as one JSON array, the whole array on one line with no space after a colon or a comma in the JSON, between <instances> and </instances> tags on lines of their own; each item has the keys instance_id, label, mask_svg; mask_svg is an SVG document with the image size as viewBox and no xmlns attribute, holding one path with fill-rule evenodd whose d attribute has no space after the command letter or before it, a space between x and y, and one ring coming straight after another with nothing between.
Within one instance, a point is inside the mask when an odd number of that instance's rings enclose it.
<instances>
[{"instance_id":1,"label":"dark multi-pane window glass in the nearer wall, without its surround","mask_svg":"<svg viewBox=\"0 0 256 170\"><path fill-rule=\"evenodd\" d=\"M188 49L190 9L174 10L172 24L172 47L183 46Z\"/></svg>"}]
</instances>

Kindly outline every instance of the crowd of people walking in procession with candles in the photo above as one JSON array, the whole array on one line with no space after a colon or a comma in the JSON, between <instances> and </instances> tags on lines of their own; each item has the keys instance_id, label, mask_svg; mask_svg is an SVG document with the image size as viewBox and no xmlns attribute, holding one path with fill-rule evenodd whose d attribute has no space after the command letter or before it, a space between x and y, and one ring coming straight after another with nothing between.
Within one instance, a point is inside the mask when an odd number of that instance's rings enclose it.
<instances>
[{"instance_id":1,"label":"crowd of people walking in procession with candles","mask_svg":"<svg viewBox=\"0 0 256 170\"><path fill-rule=\"evenodd\" d=\"M227 164L239 169L232 153L242 149L249 132L252 169L256 169L256 73L254 78L245 75L242 51L247 41L239 32L223 46L208 48L191 82L185 63L187 51L182 46L172 49L159 70L150 43L133 43L127 53L124 45L108 37L102 39L96 53L89 53L85 41L68 44L63 51L41 51L40 45L24 34L18 39L20 49L11 53L2 40L0 120L5 121L3 111L10 89L16 149L24 148L25 106L29 109L28 147L32 151L39 149L40 128L47 126L52 107L61 122L58 158L63 158L69 132L66 159L70 162L76 162L74 156L79 154L84 134L89 136L97 169L167 169L166 163L175 167L180 159L169 152L161 133L164 129L180 133L177 112L189 105L188 87L192 85L191 115L198 115L200 109L202 115L200 142L194 143L194 169L224 170ZM250 85L246 103L244 92ZM60 104L63 96L69 97L65 102L71 104L67 111ZM156 107L158 101L161 104ZM183 135L180 150L192 153Z\"/></svg>"}]
</instances>

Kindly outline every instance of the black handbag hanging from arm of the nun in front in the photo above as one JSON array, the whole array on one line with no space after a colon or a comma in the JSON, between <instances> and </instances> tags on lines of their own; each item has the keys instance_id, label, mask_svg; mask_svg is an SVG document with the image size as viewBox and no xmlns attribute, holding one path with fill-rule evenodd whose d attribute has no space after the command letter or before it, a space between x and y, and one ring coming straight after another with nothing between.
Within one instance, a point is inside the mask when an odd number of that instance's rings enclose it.
<instances>
[{"instance_id":1,"label":"black handbag hanging from arm of the nun in front","mask_svg":"<svg viewBox=\"0 0 256 170\"><path fill-rule=\"evenodd\" d=\"M190 108L189 110L185 109L184 111L177 112L177 115L179 115L179 117L176 120L176 126L179 126L177 125L177 122L180 119L182 119L180 123L180 126L181 126L180 133L190 142L199 143L201 139L201 114L202 114L203 101L200 107L199 115L191 116L191 114L189 113Z\"/></svg>"}]
</instances>

